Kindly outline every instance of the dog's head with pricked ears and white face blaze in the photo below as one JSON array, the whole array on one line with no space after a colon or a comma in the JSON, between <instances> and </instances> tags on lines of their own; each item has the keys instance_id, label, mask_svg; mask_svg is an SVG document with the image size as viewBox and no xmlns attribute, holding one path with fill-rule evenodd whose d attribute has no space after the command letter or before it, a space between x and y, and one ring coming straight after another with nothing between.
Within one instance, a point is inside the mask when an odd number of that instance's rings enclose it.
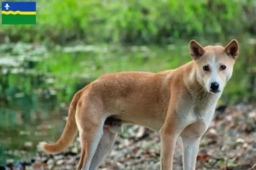
<instances>
[{"instance_id":1,"label":"dog's head with pricked ears and white face blaze","mask_svg":"<svg viewBox=\"0 0 256 170\"><path fill-rule=\"evenodd\" d=\"M232 40L226 47L202 47L195 40L189 43L190 55L195 60L196 77L207 92L218 93L224 89L230 80L233 65L239 54L236 40Z\"/></svg>"}]
</instances>

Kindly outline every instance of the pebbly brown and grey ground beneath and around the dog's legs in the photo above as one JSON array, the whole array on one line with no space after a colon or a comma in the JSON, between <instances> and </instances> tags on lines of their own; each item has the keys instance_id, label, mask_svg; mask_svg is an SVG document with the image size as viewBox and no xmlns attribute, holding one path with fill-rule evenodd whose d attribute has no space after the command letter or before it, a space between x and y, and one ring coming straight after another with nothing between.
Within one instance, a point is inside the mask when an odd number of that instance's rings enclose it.
<instances>
[{"instance_id":1,"label":"pebbly brown and grey ground beneath and around the dog's legs","mask_svg":"<svg viewBox=\"0 0 256 170\"><path fill-rule=\"evenodd\" d=\"M219 105L215 118L201 139L196 169L256 169L256 105ZM174 169L182 169L182 143L178 139ZM26 169L75 169L79 161L79 139L67 151L48 156L38 152ZM15 165L17 167L17 165ZM144 127L125 127L102 163L102 170L160 169L159 133Z\"/></svg>"}]
</instances>

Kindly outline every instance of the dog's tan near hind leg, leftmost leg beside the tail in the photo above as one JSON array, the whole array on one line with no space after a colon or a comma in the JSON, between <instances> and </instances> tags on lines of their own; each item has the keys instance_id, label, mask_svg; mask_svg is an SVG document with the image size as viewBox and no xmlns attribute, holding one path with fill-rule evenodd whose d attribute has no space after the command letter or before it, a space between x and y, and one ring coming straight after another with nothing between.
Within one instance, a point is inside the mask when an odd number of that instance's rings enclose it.
<instances>
[{"instance_id":1,"label":"dog's tan near hind leg, leftmost leg beside the tail","mask_svg":"<svg viewBox=\"0 0 256 170\"><path fill-rule=\"evenodd\" d=\"M99 103L100 100L98 100ZM103 135L103 126L106 118L103 116L102 105L93 104L96 104L94 99L84 99L80 100L77 106L76 122L81 143L78 170L90 169L90 162Z\"/></svg>"}]
</instances>

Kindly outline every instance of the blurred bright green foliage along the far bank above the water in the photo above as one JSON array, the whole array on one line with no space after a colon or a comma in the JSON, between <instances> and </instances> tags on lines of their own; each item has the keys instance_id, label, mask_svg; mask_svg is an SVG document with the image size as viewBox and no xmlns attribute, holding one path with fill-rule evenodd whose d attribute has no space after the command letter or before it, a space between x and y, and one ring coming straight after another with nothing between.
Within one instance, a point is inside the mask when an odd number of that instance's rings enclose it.
<instances>
[{"instance_id":1,"label":"blurred bright green foliage along the far bank above the water","mask_svg":"<svg viewBox=\"0 0 256 170\"><path fill-rule=\"evenodd\" d=\"M0 33L26 42L173 42L256 32L250 0L38 0L37 7L36 26L2 26Z\"/></svg>"}]
</instances>

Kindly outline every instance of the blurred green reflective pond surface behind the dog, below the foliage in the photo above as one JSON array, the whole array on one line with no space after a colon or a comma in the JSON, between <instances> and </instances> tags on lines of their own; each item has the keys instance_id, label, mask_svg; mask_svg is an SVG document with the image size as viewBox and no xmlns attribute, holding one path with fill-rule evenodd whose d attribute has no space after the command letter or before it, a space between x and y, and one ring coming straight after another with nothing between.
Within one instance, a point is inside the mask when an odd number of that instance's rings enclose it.
<instances>
[{"instance_id":1,"label":"blurred green reflective pond surface behind the dog, below the foliage","mask_svg":"<svg viewBox=\"0 0 256 170\"><path fill-rule=\"evenodd\" d=\"M245 41L240 49L220 103L233 104L256 96L255 41ZM38 141L59 139L73 94L102 74L164 71L189 60L187 42L125 47L0 45L0 165L29 159Z\"/></svg>"}]
</instances>

